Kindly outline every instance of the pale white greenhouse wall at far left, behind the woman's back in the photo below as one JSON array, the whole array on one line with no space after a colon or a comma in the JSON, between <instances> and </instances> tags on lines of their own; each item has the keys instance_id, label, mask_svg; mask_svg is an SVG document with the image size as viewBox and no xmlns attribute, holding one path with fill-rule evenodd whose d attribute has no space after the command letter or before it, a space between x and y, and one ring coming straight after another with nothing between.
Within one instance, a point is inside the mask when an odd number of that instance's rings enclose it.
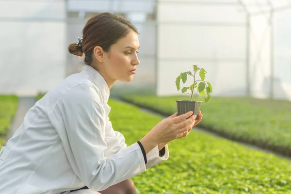
<instances>
[{"instance_id":1,"label":"pale white greenhouse wall at far left, behind the woman's back","mask_svg":"<svg viewBox=\"0 0 291 194\"><path fill-rule=\"evenodd\" d=\"M65 77L65 1L9 0L0 8L0 94L48 91Z\"/></svg>"}]
</instances>

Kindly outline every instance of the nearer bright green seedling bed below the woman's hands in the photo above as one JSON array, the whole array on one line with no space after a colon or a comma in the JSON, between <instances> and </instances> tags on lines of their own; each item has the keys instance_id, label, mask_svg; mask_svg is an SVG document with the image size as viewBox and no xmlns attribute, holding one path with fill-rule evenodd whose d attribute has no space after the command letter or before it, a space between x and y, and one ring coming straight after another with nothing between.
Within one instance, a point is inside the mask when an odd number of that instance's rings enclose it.
<instances>
[{"instance_id":1,"label":"nearer bright green seedling bed below the woman's hands","mask_svg":"<svg viewBox=\"0 0 291 194\"><path fill-rule=\"evenodd\" d=\"M146 97L145 101L149 99L153 97ZM168 100L173 102L172 99ZM162 119L113 99L109 105L113 129L124 134L128 145L140 140ZM175 107L174 103L172 109ZM287 194L291 190L291 163L272 154L194 131L168 146L167 161L132 178L141 193Z\"/></svg>"}]
</instances>

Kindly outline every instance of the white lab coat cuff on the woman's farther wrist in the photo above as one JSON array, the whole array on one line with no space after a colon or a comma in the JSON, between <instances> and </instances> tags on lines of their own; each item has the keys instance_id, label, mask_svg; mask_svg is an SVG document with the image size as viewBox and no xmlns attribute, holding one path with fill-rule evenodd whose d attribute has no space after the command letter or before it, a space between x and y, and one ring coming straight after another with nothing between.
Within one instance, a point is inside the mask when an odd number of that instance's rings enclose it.
<instances>
[{"instance_id":1,"label":"white lab coat cuff on the woman's farther wrist","mask_svg":"<svg viewBox=\"0 0 291 194\"><path fill-rule=\"evenodd\" d=\"M162 149L161 149L162 151ZM160 156L159 146L154 147L147 155L146 168L150 168L158 163L168 160L169 158L169 148L168 145L164 146L164 155ZM162 153L161 153L162 154Z\"/></svg>"}]
</instances>

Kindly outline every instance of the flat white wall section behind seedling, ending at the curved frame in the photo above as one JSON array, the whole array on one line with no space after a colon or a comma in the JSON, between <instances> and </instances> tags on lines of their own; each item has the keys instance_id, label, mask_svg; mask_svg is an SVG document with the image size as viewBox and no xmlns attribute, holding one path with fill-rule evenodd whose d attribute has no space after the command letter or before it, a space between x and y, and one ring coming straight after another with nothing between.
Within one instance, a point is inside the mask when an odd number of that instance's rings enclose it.
<instances>
[{"instance_id":1,"label":"flat white wall section behind seedling, ending at the curved frame","mask_svg":"<svg viewBox=\"0 0 291 194\"><path fill-rule=\"evenodd\" d=\"M239 6L163 0L158 5L157 94L180 95L176 78L198 65L208 72L213 95L245 95L245 14Z\"/></svg>"}]
</instances>

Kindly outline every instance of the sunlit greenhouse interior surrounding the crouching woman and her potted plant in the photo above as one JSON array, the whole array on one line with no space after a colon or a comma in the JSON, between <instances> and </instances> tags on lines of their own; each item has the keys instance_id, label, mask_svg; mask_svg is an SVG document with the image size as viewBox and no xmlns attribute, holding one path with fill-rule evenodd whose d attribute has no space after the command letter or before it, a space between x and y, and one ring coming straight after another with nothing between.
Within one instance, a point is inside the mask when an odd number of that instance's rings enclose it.
<instances>
[{"instance_id":1,"label":"sunlit greenhouse interior surrounding the crouching woman and her potted plant","mask_svg":"<svg viewBox=\"0 0 291 194\"><path fill-rule=\"evenodd\" d=\"M88 19L110 12L139 32L136 74L117 80L108 102L128 146L173 116L177 100L202 101L197 131L133 177L136 192L291 194L291 0L0 0L0 8L0 145L82 71L84 55L68 46ZM192 90L195 65L211 83L205 92Z\"/></svg>"}]
</instances>

